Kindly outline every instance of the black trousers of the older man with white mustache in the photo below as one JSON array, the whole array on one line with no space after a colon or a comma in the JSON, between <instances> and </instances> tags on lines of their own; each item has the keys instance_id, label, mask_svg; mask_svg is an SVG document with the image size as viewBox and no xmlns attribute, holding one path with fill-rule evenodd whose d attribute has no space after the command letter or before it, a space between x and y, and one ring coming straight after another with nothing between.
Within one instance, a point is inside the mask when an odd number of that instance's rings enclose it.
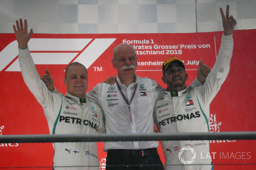
<instances>
[{"instance_id":1,"label":"black trousers of the older man with white mustache","mask_svg":"<svg viewBox=\"0 0 256 170\"><path fill-rule=\"evenodd\" d=\"M156 148L144 150L110 149L106 170L164 170Z\"/></svg>"}]
</instances>

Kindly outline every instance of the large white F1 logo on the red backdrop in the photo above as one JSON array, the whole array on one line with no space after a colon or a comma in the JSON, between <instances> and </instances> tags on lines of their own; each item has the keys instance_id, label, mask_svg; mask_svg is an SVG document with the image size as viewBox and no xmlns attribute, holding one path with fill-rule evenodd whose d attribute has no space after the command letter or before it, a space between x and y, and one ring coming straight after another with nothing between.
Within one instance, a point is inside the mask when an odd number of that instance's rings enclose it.
<instances>
[{"instance_id":1,"label":"large white F1 logo on the red backdrop","mask_svg":"<svg viewBox=\"0 0 256 170\"><path fill-rule=\"evenodd\" d=\"M68 64L75 59L89 68L115 40L31 38L28 48L35 64ZM0 71L20 71L18 54L18 42L15 40L0 52Z\"/></svg>"}]
</instances>

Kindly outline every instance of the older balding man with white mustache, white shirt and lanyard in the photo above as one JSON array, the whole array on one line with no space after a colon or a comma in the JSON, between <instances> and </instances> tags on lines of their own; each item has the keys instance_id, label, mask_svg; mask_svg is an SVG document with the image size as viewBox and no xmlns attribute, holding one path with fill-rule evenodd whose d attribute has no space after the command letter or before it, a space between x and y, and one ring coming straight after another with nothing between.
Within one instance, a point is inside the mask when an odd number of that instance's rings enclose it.
<instances>
[{"instance_id":1,"label":"older balding man with white mustache, white shirt and lanyard","mask_svg":"<svg viewBox=\"0 0 256 170\"><path fill-rule=\"evenodd\" d=\"M153 107L164 95L164 88L150 78L135 74L137 55L129 44L116 46L111 62L117 70L115 83L100 83L87 93L90 101L99 104L104 111L106 133L153 133ZM156 150L157 141L104 144L106 170L164 169Z\"/></svg>"}]
</instances>

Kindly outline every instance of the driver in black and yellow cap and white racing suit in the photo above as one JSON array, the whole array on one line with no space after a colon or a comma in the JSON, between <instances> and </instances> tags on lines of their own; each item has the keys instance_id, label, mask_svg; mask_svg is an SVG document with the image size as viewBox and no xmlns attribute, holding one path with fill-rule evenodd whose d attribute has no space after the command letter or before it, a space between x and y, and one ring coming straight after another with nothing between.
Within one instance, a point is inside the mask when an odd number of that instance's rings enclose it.
<instances>
[{"instance_id":1,"label":"driver in black and yellow cap and white racing suit","mask_svg":"<svg viewBox=\"0 0 256 170\"><path fill-rule=\"evenodd\" d=\"M165 95L154 107L154 119L159 132L209 132L209 106L228 76L233 51L232 33L236 20L226 17L220 9L224 33L220 51L212 71L203 85L189 90L185 86L188 74L181 60L170 57L163 63L163 82L167 84ZM202 59L199 67L203 64ZM203 72L210 71L204 70ZM201 159L209 154L209 141L161 141L165 156L165 170L212 169L212 160ZM209 155L208 155L209 156ZM203 165L204 164L204 165Z\"/></svg>"}]
</instances>

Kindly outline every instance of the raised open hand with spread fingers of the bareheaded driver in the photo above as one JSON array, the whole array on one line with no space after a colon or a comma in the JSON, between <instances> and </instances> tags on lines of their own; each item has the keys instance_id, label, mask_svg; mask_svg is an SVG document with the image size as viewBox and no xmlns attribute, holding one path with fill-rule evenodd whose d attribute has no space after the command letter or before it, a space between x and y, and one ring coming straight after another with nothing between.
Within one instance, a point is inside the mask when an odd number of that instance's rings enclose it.
<instances>
[{"instance_id":1,"label":"raised open hand with spread fingers of the bareheaded driver","mask_svg":"<svg viewBox=\"0 0 256 170\"><path fill-rule=\"evenodd\" d=\"M26 49L28 47L28 41L33 35L33 29L31 29L30 32L28 33L27 20L26 19L24 20L24 27L23 27L23 22L21 18L20 18L20 25L19 25L19 21L16 20L16 26L17 26L17 29L15 25L13 25L13 30L15 33L16 40L18 41L18 45L19 45L18 47L20 49Z\"/></svg>"}]
</instances>

